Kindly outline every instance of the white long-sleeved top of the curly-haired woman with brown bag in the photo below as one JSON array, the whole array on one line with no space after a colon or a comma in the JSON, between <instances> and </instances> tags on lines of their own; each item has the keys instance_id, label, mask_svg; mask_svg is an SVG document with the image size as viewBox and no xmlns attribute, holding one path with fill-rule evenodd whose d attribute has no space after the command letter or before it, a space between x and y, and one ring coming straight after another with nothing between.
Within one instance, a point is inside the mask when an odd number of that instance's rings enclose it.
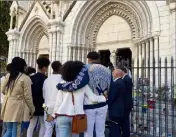
<instances>
[{"instance_id":1,"label":"white long-sleeved top of the curly-haired woman with brown bag","mask_svg":"<svg viewBox=\"0 0 176 137\"><path fill-rule=\"evenodd\" d=\"M85 114L83 106L94 103L105 102L106 98L101 95L97 96L93 93L92 89L86 85L85 87L73 92L75 105L72 102L72 93L59 91L57 94L56 104L54 107L55 114L64 116L74 116L77 114Z\"/></svg>"}]
</instances>

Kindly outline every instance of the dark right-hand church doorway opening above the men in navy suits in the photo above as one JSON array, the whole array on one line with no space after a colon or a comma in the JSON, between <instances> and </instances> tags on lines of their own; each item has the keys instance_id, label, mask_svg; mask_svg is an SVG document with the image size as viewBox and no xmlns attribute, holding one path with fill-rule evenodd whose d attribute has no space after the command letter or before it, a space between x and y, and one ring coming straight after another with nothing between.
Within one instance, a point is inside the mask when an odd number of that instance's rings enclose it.
<instances>
[{"instance_id":1,"label":"dark right-hand church doorway opening above the men in navy suits","mask_svg":"<svg viewBox=\"0 0 176 137\"><path fill-rule=\"evenodd\" d=\"M116 63L117 63L117 66L126 65L128 68L131 68L132 52L131 52L130 48L117 49Z\"/></svg>"}]
</instances>

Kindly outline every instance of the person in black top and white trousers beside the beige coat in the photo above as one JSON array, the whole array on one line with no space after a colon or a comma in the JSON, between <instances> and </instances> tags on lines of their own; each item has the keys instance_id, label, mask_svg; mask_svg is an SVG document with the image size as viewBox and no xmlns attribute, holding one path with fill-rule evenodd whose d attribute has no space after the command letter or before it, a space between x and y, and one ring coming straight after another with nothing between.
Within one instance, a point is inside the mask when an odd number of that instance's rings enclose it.
<instances>
[{"instance_id":1,"label":"person in black top and white trousers beside the beige coat","mask_svg":"<svg viewBox=\"0 0 176 137\"><path fill-rule=\"evenodd\" d=\"M49 59L41 57L37 59L38 72L31 76L32 80L32 98L35 106L34 116L30 120L29 128L27 130L27 137L33 137L34 128L39 121L40 131L39 137L44 136L45 123L44 123L44 109L43 109L43 83L47 76L45 75L48 71L48 66L50 64Z\"/></svg>"}]
</instances>

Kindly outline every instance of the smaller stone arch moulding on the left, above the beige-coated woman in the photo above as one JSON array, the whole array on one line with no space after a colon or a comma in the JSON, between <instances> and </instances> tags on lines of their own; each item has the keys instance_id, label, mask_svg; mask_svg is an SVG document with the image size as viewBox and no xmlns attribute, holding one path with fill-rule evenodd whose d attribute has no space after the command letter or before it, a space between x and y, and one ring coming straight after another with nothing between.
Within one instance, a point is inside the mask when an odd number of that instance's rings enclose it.
<instances>
[{"instance_id":1,"label":"smaller stone arch moulding on the left, above the beige-coated woman","mask_svg":"<svg viewBox=\"0 0 176 137\"><path fill-rule=\"evenodd\" d=\"M47 21L40 16L31 18L21 30L19 56L26 59L28 65L35 67L40 40L43 36L48 39ZM49 47L48 47L49 49Z\"/></svg>"}]
</instances>

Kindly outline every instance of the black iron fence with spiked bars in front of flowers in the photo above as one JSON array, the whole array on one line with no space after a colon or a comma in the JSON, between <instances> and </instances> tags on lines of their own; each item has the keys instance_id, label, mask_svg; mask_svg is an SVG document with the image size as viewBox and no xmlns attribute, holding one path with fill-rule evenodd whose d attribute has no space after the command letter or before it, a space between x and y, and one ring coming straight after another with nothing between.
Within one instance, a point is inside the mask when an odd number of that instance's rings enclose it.
<instances>
[{"instance_id":1,"label":"black iron fence with spiked bars in front of flowers","mask_svg":"<svg viewBox=\"0 0 176 137\"><path fill-rule=\"evenodd\" d=\"M138 59L132 61L129 69L134 83L131 132L142 137L175 137L176 67L173 58Z\"/></svg>"}]
</instances>

